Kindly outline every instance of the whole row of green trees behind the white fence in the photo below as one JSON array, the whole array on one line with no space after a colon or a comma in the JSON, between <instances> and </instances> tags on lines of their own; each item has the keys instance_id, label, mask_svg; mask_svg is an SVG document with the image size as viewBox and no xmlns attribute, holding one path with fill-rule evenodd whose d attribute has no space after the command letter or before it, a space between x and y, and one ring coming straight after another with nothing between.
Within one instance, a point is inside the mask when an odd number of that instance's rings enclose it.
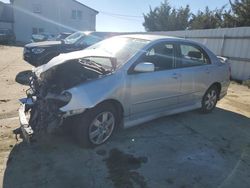
<instances>
[{"instance_id":1,"label":"whole row of green trees behind the white fence","mask_svg":"<svg viewBox=\"0 0 250 188\"><path fill-rule=\"evenodd\" d=\"M176 9L165 0L159 7L150 7L149 13L143 14L143 26L146 31L250 26L250 0L229 0L229 4L230 8L227 5L215 10L206 7L204 11L192 14L188 5Z\"/></svg>"}]
</instances>

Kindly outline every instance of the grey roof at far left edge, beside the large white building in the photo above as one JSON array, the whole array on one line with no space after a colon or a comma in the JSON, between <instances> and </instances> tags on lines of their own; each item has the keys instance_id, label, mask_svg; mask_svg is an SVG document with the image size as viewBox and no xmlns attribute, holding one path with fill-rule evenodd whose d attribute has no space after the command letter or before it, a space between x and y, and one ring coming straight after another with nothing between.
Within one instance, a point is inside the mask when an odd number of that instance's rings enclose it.
<instances>
[{"instance_id":1,"label":"grey roof at far left edge, beside the large white building","mask_svg":"<svg viewBox=\"0 0 250 188\"><path fill-rule=\"evenodd\" d=\"M13 9L10 4L0 1L0 21L1 22L14 22Z\"/></svg>"}]
</instances>

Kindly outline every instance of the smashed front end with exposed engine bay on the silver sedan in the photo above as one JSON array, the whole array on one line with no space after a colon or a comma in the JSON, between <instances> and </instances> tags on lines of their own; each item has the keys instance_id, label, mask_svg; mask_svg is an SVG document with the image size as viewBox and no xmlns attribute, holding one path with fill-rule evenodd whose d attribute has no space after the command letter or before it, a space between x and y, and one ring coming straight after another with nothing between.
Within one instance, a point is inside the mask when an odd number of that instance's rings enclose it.
<instances>
[{"instance_id":1,"label":"smashed front end with exposed engine bay on the silver sedan","mask_svg":"<svg viewBox=\"0 0 250 188\"><path fill-rule=\"evenodd\" d=\"M61 111L72 94L67 90L84 82L98 79L112 72L88 58L68 60L45 72L33 71L27 98L21 99L19 120L27 142L35 135L55 132L69 116L83 113L85 109Z\"/></svg>"}]
</instances>

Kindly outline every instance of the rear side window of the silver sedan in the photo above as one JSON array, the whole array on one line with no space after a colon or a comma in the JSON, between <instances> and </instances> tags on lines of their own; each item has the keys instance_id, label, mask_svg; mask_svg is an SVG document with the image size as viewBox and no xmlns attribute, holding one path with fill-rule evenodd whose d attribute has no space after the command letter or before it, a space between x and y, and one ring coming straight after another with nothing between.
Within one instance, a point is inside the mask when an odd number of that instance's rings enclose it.
<instances>
[{"instance_id":1,"label":"rear side window of the silver sedan","mask_svg":"<svg viewBox=\"0 0 250 188\"><path fill-rule=\"evenodd\" d=\"M180 67L192 67L210 64L208 55L199 47L193 45L180 45Z\"/></svg>"}]
</instances>

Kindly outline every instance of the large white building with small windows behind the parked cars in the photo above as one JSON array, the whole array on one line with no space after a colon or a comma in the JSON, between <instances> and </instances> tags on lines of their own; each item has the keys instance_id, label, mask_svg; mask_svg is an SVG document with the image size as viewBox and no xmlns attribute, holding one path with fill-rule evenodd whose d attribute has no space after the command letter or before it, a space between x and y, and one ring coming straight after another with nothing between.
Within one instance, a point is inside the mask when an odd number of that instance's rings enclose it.
<instances>
[{"instance_id":1,"label":"large white building with small windows behind the parked cars","mask_svg":"<svg viewBox=\"0 0 250 188\"><path fill-rule=\"evenodd\" d=\"M12 0L17 41L32 34L95 31L98 11L76 0Z\"/></svg>"}]
</instances>

